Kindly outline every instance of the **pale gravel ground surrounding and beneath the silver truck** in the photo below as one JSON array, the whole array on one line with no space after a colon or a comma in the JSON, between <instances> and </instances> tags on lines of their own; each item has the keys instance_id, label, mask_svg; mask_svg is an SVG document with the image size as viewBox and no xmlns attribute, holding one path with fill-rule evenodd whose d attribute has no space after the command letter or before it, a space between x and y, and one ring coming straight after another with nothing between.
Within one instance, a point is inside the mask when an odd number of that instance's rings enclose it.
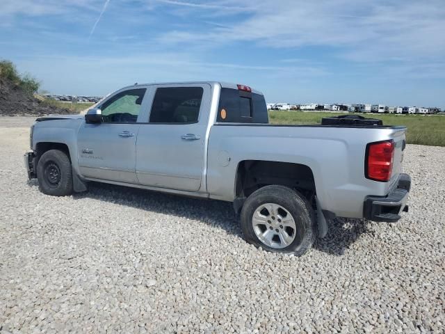
<instances>
[{"instance_id":1,"label":"pale gravel ground surrounding and beneath the silver truck","mask_svg":"<svg viewBox=\"0 0 445 334\"><path fill-rule=\"evenodd\" d=\"M445 148L407 145L410 213L332 221L304 257L247 244L229 203L92 184L44 196L0 118L1 333L444 333Z\"/></svg>"}]
</instances>

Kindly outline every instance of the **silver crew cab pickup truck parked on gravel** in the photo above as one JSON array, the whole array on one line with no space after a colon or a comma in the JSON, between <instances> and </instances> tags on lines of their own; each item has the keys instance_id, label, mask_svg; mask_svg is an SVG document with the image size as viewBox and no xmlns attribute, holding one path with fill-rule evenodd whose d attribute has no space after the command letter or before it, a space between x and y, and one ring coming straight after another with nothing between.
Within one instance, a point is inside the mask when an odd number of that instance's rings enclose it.
<instances>
[{"instance_id":1,"label":"silver crew cab pickup truck parked on gravel","mask_svg":"<svg viewBox=\"0 0 445 334\"><path fill-rule=\"evenodd\" d=\"M335 216L407 211L405 127L269 125L264 96L220 82L144 84L85 116L38 118L24 156L52 196L106 182L233 202L245 238L302 255Z\"/></svg>"}]
</instances>

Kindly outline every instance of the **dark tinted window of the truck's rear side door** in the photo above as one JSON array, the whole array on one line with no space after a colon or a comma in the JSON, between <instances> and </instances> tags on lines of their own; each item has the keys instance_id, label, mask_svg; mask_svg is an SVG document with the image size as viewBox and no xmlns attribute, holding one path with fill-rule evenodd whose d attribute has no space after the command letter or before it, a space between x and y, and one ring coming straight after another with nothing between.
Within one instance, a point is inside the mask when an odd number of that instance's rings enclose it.
<instances>
[{"instance_id":1,"label":"dark tinted window of the truck's rear side door","mask_svg":"<svg viewBox=\"0 0 445 334\"><path fill-rule=\"evenodd\" d=\"M150 123L195 123L200 116L202 87L157 88Z\"/></svg>"}]
</instances>

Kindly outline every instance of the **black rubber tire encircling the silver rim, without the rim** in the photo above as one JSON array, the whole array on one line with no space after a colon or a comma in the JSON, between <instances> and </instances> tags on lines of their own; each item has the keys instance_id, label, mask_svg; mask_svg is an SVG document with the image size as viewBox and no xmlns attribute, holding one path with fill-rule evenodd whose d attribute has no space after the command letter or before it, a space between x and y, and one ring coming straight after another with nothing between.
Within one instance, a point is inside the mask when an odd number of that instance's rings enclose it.
<instances>
[{"instance_id":1,"label":"black rubber tire encircling the silver rim, without the rim","mask_svg":"<svg viewBox=\"0 0 445 334\"><path fill-rule=\"evenodd\" d=\"M252 226L253 215L261 205L266 203L275 203L286 209L295 222L296 234L294 239L291 244L284 248L268 246L257 237L254 231L254 227ZM248 197L241 210L241 228L251 244L271 252L294 253L296 256L301 256L306 253L312 244L314 244L316 238L316 220L312 206L307 199L297 191L279 185L264 186ZM277 232L279 231L277 230Z\"/></svg>"}]
</instances>

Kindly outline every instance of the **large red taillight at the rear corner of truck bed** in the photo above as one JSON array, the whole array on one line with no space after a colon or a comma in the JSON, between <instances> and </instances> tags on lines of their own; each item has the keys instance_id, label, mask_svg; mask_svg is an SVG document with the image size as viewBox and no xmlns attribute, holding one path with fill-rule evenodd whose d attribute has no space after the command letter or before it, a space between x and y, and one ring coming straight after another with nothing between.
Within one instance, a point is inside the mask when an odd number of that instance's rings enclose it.
<instances>
[{"instance_id":1,"label":"large red taillight at the rear corner of truck bed","mask_svg":"<svg viewBox=\"0 0 445 334\"><path fill-rule=\"evenodd\" d=\"M366 155L366 177L388 182L391 179L393 161L394 141L369 144Z\"/></svg>"}]
</instances>

